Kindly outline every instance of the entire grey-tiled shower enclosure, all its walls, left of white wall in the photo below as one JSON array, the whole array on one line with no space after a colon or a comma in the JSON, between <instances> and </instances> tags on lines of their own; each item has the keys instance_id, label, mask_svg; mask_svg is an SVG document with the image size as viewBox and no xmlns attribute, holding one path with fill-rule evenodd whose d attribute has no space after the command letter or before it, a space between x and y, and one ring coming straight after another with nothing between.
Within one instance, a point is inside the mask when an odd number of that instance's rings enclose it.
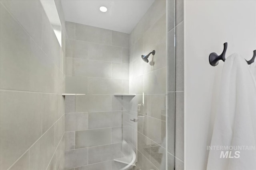
<instances>
[{"instance_id":1,"label":"entire grey-tiled shower enclosure, all its walls, left of white wall","mask_svg":"<svg viewBox=\"0 0 256 170\"><path fill-rule=\"evenodd\" d=\"M65 21L55 4L62 47L40 1L1 0L0 169L120 170L122 141L133 170L183 169L182 1L154 1L130 34Z\"/></svg>"}]
</instances>

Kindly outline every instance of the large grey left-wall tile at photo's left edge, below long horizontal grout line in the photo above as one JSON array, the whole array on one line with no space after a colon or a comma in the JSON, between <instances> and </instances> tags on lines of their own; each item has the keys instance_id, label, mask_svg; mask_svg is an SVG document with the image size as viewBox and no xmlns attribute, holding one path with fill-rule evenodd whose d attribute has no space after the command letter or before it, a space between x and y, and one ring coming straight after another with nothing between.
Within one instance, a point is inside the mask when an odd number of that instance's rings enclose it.
<instances>
[{"instance_id":1,"label":"large grey left-wall tile at photo's left edge, below long horizontal grout line","mask_svg":"<svg viewBox=\"0 0 256 170\"><path fill-rule=\"evenodd\" d=\"M40 94L0 92L1 169L12 165L40 136Z\"/></svg>"}]
</instances>

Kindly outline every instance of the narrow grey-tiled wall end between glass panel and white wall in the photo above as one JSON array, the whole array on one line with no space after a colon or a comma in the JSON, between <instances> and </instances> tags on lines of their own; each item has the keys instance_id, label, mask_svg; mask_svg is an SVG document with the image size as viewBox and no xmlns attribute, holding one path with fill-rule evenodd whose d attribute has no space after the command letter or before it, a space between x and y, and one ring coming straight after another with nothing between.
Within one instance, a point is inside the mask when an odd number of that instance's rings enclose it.
<instances>
[{"instance_id":1,"label":"narrow grey-tiled wall end between glass panel and white wall","mask_svg":"<svg viewBox=\"0 0 256 170\"><path fill-rule=\"evenodd\" d=\"M183 0L168 0L168 164L173 169L174 162L176 170L184 170L183 5Z\"/></svg>"}]
</instances>

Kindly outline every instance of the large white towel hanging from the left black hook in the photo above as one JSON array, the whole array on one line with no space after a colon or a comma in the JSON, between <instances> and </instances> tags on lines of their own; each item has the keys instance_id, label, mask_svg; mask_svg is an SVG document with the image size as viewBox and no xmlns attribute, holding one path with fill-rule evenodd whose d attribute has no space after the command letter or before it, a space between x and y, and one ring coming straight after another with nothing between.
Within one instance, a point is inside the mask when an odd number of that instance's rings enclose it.
<instances>
[{"instance_id":1,"label":"large white towel hanging from the left black hook","mask_svg":"<svg viewBox=\"0 0 256 170\"><path fill-rule=\"evenodd\" d=\"M236 148L256 147L256 85L248 64L238 54L224 63L217 110L207 170L256 170L256 150ZM221 148L226 146L233 150ZM222 151L228 151L228 158L220 158Z\"/></svg>"}]
</instances>

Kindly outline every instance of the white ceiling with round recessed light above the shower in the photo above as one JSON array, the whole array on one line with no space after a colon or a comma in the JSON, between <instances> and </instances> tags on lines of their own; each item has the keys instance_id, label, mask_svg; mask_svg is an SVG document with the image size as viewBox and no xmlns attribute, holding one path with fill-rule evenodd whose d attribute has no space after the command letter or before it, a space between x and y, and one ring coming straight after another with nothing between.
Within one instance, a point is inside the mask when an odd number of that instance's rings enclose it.
<instances>
[{"instance_id":1,"label":"white ceiling with round recessed light above the shower","mask_svg":"<svg viewBox=\"0 0 256 170\"><path fill-rule=\"evenodd\" d=\"M154 0L62 0L66 21L130 33ZM107 12L100 12L106 6Z\"/></svg>"}]
</instances>

